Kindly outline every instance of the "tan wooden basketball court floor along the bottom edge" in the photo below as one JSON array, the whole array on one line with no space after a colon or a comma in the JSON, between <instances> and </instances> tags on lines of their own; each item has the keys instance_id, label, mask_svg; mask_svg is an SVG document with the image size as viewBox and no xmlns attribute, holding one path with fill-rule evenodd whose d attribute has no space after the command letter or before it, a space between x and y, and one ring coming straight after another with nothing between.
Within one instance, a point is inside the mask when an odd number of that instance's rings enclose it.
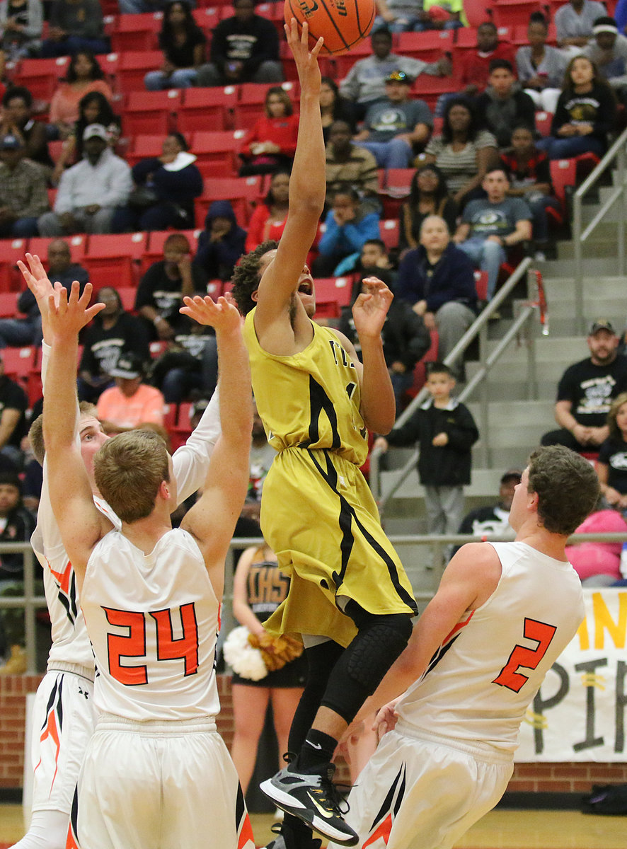
<instances>
[{"instance_id":1,"label":"tan wooden basketball court floor along the bottom edge","mask_svg":"<svg viewBox=\"0 0 627 849\"><path fill-rule=\"evenodd\" d=\"M271 814L252 814L257 846L272 839ZM0 849L24 835L19 805L0 805ZM626 849L627 817L597 817L576 811L490 812L470 829L457 849Z\"/></svg>"}]
</instances>

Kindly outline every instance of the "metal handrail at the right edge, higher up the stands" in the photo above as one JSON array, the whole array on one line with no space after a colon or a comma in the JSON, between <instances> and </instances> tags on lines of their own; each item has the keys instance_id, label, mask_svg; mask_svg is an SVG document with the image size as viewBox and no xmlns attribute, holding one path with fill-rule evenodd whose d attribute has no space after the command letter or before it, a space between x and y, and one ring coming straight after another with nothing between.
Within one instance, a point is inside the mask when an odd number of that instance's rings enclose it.
<instances>
[{"instance_id":1,"label":"metal handrail at the right edge, higher up the stands","mask_svg":"<svg viewBox=\"0 0 627 849\"><path fill-rule=\"evenodd\" d=\"M602 158L596 168L591 171L584 182L581 183L577 191L573 195L573 243L574 243L574 312L577 329L579 333L585 333L585 318L584 318L584 244L594 232L597 225L603 221L613 205L617 201L622 200L619 204L619 220L618 227L618 259L619 259L619 274L625 273L625 245L624 245L624 225L627 220L627 185L625 183L625 158L627 145L627 129L619 135L619 138L613 143L612 147L607 151L607 154ZM617 166L616 186L610 193L609 197L602 204L601 208L596 212L592 221L584 228L583 223L583 201L584 196L590 188L598 182L599 177L607 171L614 161Z\"/></svg>"}]
</instances>

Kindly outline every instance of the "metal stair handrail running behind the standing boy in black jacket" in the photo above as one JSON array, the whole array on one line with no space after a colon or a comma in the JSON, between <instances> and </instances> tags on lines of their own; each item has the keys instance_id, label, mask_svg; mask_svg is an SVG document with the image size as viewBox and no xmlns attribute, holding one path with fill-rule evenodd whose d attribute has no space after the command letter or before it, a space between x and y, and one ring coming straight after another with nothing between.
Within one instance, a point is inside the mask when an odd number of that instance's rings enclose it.
<instances>
[{"instance_id":1,"label":"metal stair handrail running behind the standing boy in black jacket","mask_svg":"<svg viewBox=\"0 0 627 849\"><path fill-rule=\"evenodd\" d=\"M531 267L531 259L526 257L516 268L516 270L507 278L506 283L500 288L500 290L494 295L492 301L489 302L489 305L485 310L481 313L481 315L472 323L472 325L466 330L466 333L461 337L460 341L453 348L453 350L449 353L448 357L444 360L446 365L451 365L455 363L457 357L459 357L466 348L470 345L470 343L479 337L479 370L477 374L470 380L470 382L464 387L464 389L460 392L458 396L460 401L465 401L468 396L470 396L471 392L474 391L477 386L479 386L481 391L480 396L480 404L481 404L481 425L479 428L479 432L482 435L481 442L479 444L479 450L482 453L482 462L484 465L489 464L490 457L490 441L489 441L489 403L488 403L488 382L485 380L486 375L489 373L490 369L494 366L494 363L500 357L500 354L506 349L506 347L510 344L511 340L517 336L519 330L525 329L525 333L527 335L528 340L528 391L535 391L535 387L537 385L536 376L535 376L535 357L534 357L534 335L531 332L531 322L530 318L534 315L535 312L538 312L538 306L536 304L528 304L528 306L524 306L520 314L515 319L514 323L512 323L511 328L507 330L506 335L499 341L497 346L494 348L491 354L488 354L487 342L488 342L488 322L490 317L496 310L498 310L499 306L503 301L506 300L506 297L510 295L511 291L516 286L518 280L523 277L523 274L528 273ZM410 405L398 416L398 419L394 423L393 430L396 430L398 427L403 425L407 419L410 418L411 415L415 412L415 410L420 406L422 402L426 400L427 391L423 387L421 391L415 396L414 400L410 403ZM419 449L416 449L414 453L412 453L410 459L408 459L407 463L404 464L403 468L400 470L398 474L398 478L394 481L390 490L385 494L381 494L381 448L376 447L372 453L370 454L370 489L375 497L376 502L379 504L379 510L381 516L384 514L387 503L390 498L393 498L393 495L398 491L398 488L403 485L404 481L411 474L412 470L415 469L415 464L418 461L419 457Z\"/></svg>"}]
</instances>

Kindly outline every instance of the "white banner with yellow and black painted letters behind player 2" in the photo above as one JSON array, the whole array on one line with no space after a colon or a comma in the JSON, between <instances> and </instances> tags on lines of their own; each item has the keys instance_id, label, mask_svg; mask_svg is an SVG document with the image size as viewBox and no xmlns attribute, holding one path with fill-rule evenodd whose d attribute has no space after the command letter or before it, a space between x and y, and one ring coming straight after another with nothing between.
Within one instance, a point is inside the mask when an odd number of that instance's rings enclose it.
<instances>
[{"instance_id":1,"label":"white banner with yellow and black painted letters behind player 2","mask_svg":"<svg viewBox=\"0 0 627 849\"><path fill-rule=\"evenodd\" d=\"M517 762L627 760L627 589L584 596L585 620L527 711Z\"/></svg>"}]
</instances>

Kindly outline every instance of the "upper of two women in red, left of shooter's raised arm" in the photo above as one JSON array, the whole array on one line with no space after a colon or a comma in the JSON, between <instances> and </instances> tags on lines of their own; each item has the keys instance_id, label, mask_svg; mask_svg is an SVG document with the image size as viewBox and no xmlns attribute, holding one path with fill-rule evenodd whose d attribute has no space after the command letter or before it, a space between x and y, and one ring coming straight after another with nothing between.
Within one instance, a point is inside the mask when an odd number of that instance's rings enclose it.
<instances>
[{"instance_id":1,"label":"upper of two women in red, left of shooter's raised arm","mask_svg":"<svg viewBox=\"0 0 627 849\"><path fill-rule=\"evenodd\" d=\"M240 177L271 174L278 168L291 170L296 153L298 115L294 115L290 95L280 86L268 88L263 106L265 115L246 133L240 150L244 164Z\"/></svg>"}]
</instances>

